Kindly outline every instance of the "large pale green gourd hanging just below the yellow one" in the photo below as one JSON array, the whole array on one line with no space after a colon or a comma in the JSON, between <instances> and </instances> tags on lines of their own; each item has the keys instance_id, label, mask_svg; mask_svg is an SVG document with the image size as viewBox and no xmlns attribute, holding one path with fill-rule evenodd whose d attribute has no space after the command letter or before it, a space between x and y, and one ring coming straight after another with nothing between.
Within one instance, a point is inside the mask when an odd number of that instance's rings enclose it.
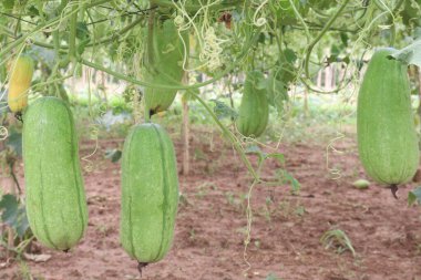
<instances>
[{"instance_id":1,"label":"large pale green gourd hanging just below the yellow one","mask_svg":"<svg viewBox=\"0 0 421 280\"><path fill-rule=\"evenodd\" d=\"M30 227L44 246L69 250L88 226L76 132L69 106L57 97L37 100L23 116L22 137Z\"/></svg>"}]
</instances>

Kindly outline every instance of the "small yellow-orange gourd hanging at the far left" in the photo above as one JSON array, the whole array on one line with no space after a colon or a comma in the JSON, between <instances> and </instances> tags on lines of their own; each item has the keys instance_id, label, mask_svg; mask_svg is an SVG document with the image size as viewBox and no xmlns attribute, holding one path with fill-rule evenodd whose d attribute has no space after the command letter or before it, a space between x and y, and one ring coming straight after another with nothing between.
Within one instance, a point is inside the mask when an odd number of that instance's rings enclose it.
<instances>
[{"instance_id":1,"label":"small yellow-orange gourd hanging at the far left","mask_svg":"<svg viewBox=\"0 0 421 280\"><path fill-rule=\"evenodd\" d=\"M10 111L20 112L28 105L28 90L33 75L33 61L30 56L19 56L10 65L8 105Z\"/></svg>"}]
</instances>

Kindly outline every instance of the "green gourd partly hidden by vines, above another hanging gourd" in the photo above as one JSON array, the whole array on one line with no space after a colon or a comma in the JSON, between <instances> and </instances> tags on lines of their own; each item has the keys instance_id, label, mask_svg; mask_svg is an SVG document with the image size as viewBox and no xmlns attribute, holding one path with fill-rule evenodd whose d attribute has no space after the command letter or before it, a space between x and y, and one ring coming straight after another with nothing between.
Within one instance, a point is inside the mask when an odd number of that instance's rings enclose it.
<instances>
[{"instance_id":1,"label":"green gourd partly hidden by vines, above another hanging gourd","mask_svg":"<svg viewBox=\"0 0 421 280\"><path fill-rule=\"evenodd\" d=\"M184 32L182 37L188 48L188 34ZM146 65L145 80L154 84L178 85L184 74L184 44L174 21L166 20L154 27L152 53L153 61ZM176 94L177 90L146 87L145 102L151 114L167 110Z\"/></svg>"}]
</instances>

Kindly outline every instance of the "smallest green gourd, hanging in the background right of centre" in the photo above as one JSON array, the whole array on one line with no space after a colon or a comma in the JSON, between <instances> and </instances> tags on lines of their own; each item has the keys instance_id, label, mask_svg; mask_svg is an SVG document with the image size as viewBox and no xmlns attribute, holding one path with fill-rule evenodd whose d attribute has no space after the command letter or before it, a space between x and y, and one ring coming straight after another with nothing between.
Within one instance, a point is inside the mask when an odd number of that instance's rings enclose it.
<instances>
[{"instance_id":1,"label":"smallest green gourd, hanging in the background right of centre","mask_svg":"<svg viewBox=\"0 0 421 280\"><path fill-rule=\"evenodd\" d=\"M246 76L237 118L237 128L246 137L260 136L269 120L267 90L258 84L263 80L264 74L259 71L248 72Z\"/></svg>"}]
</instances>

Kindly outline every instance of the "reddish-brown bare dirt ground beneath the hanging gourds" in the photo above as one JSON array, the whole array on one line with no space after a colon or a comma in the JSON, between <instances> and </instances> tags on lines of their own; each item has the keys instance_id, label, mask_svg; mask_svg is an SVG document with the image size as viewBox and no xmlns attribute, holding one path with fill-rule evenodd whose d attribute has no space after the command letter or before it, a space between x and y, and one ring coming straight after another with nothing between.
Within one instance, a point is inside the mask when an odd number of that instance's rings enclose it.
<instances>
[{"instance_id":1,"label":"reddish-brown bare dirt ground beneath the hanging gourds","mask_svg":"<svg viewBox=\"0 0 421 280\"><path fill-rule=\"evenodd\" d=\"M173 248L164 260L144 269L142 279L421 279L421 208L407 207L409 186L398 191L399 200L377 185L353 188L351 183L364 175L351 138L337 142L343 154L329 157L329 166L340 169L338 179L327 168L325 146L279 148L301 191L291 195L288 184L255 186L248 267L243 251L251 180L232 147L216 138L213 145L192 138L192 173L179 176L183 197ZM120 164L103 157L105 149L122 142L101 141L92 158L95 168L84 175L90 212L84 239L69 253L41 247L41 253L52 258L28 261L33 279L141 279L136 262L119 242ZM92 142L83 143L81 155L93 147ZM181 160L177 141L176 149ZM278 163L268 162L264 177L273 178L277 168ZM343 230L357 255L324 248L320 237L329 229ZM0 279L21 279L21 273L14 262L0 269Z\"/></svg>"}]
</instances>

